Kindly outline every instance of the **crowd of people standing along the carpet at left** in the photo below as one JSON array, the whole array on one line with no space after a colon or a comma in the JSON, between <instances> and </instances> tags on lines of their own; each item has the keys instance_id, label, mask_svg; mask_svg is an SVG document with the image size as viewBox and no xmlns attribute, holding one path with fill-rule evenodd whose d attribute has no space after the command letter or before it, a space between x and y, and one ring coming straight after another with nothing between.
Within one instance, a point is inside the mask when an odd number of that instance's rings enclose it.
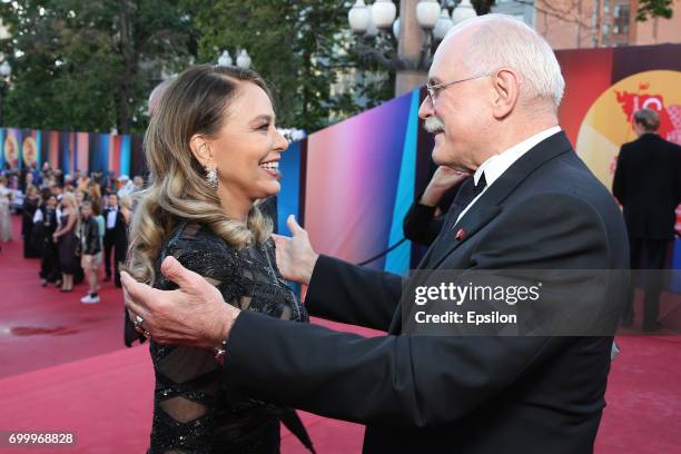
<instances>
[{"instance_id":1,"label":"crowd of people standing along the carpet at left","mask_svg":"<svg viewBox=\"0 0 681 454\"><path fill-rule=\"evenodd\" d=\"M60 292L87 282L83 304L100 302L100 275L120 287L119 264L125 260L128 225L135 194L144 187L139 176L130 179L111 171L67 175L49 162L0 174L0 243L16 238L10 211L13 198L22 197L23 256L39 258L43 287Z\"/></svg>"}]
</instances>

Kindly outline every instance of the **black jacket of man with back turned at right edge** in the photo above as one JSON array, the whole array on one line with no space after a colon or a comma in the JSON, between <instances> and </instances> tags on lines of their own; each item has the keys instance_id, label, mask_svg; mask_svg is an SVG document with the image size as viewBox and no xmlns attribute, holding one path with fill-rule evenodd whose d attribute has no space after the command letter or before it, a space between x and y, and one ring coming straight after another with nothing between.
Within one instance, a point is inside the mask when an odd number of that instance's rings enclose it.
<instances>
[{"instance_id":1,"label":"black jacket of man with back turned at right edge","mask_svg":"<svg viewBox=\"0 0 681 454\"><path fill-rule=\"evenodd\" d=\"M657 134L624 144L612 193L624 208L631 238L672 239L681 203L681 147Z\"/></svg>"}]
</instances>

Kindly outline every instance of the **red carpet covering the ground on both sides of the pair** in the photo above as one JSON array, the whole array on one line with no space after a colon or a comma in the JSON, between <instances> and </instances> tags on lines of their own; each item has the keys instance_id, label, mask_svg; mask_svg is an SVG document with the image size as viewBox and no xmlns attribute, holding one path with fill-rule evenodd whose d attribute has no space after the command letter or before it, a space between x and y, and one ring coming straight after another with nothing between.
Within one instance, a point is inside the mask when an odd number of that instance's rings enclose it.
<instances>
[{"instance_id":1,"label":"red carpet covering the ground on both sides of the pair","mask_svg":"<svg viewBox=\"0 0 681 454\"><path fill-rule=\"evenodd\" d=\"M18 241L3 245L0 432L76 433L75 446L39 451L46 453L144 453L152 374L146 346L122 347L120 292L108 285L101 304L81 305L82 286L66 297L43 289L37 268L36 260L21 258ZM681 339L620 336L618 342L622 354L610 374L595 452L681 453ZM318 453L361 451L361 426L309 414L303 418ZM306 452L286 431L282 451ZM0 452L28 450L0 442Z\"/></svg>"}]
</instances>

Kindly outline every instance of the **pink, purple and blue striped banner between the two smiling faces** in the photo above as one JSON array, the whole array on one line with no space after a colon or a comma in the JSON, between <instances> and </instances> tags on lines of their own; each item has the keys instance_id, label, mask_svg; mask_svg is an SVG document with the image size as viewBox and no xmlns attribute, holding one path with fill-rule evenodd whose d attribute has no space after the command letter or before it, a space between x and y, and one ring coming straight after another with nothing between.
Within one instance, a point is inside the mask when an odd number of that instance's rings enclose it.
<instances>
[{"instance_id":1,"label":"pink, purple and blue striped banner between the two smiling faces","mask_svg":"<svg viewBox=\"0 0 681 454\"><path fill-rule=\"evenodd\" d=\"M413 158L403 155L416 152L414 140L405 144L407 125L416 127L409 122L416 115L413 98L404 95L307 139L305 227L319 253L361 263L402 237L394 225L404 217L404 209L396 210L404 205L397 196L412 201L413 193L398 186L413 187L413 177L401 181L403 166L413 167ZM385 265L385 256L368 264ZM406 267L408 259L398 268Z\"/></svg>"}]
</instances>

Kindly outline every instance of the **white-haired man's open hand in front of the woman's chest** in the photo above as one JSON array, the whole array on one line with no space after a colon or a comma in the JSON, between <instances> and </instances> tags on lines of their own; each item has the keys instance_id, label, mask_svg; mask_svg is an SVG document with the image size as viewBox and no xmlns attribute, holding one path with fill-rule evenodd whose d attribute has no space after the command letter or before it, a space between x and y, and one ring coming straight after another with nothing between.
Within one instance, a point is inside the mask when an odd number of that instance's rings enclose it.
<instances>
[{"instance_id":1,"label":"white-haired man's open hand in front of the woman's chest","mask_svg":"<svg viewBox=\"0 0 681 454\"><path fill-rule=\"evenodd\" d=\"M288 216L286 225L293 238L273 235L277 245L277 266L285 279L308 285L319 255L313 249L307 231L298 225L294 215Z\"/></svg>"}]
</instances>

